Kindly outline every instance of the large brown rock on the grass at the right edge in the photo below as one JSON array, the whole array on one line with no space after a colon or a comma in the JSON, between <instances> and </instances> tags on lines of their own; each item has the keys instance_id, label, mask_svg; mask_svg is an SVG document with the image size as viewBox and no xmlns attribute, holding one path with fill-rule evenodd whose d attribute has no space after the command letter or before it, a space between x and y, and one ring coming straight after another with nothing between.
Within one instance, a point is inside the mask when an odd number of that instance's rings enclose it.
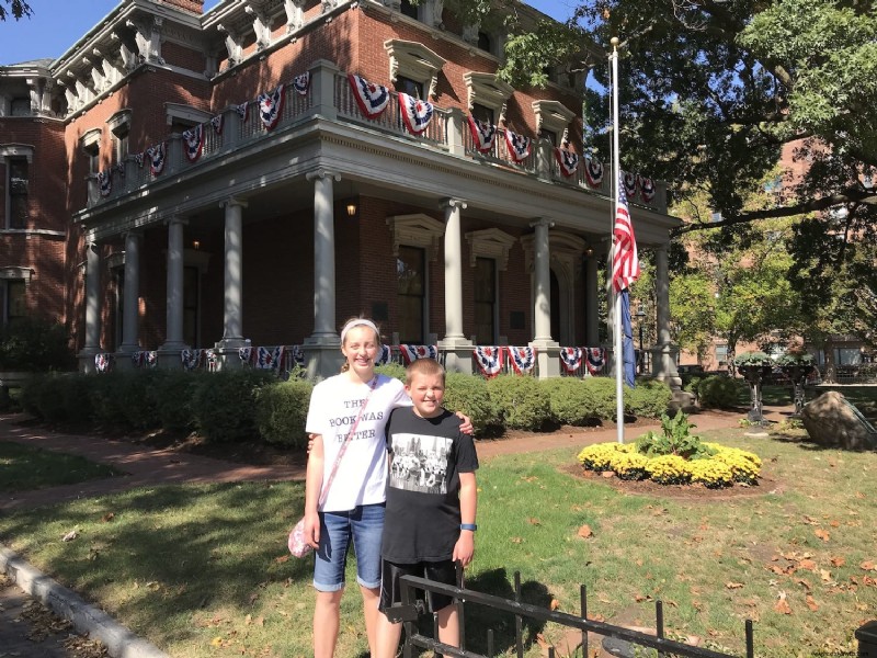
<instances>
[{"instance_id":1,"label":"large brown rock on the grass at the right edge","mask_svg":"<svg viewBox=\"0 0 877 658\"><path fill-rule=\"evenodd\" d=\"M807 433L820 445L877 450L877 430L836 390L823 393L801 411Z\"/></svg>"}]
</instances>

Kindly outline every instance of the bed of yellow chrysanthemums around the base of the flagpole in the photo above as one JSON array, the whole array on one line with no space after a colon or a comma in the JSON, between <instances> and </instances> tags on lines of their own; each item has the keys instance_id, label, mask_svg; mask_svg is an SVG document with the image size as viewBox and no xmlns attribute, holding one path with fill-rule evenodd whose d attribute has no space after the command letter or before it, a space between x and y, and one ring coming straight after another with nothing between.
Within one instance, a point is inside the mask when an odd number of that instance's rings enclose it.
<instances>
[{"instance_id":1,"label":"bed of yellow chrysanthemums around the base of the flagpole","mask_svg":"<svg viewBox=\"0 0 877 658\"><path fill-rule=\"evenodd\" d=\"M718 489L758 480L761 460L756 454L718 443L704 445L714 454L685 460L679 455L648 457L636 452L633 443L597 443L582 450L578 460L585 470L612 470L620 479L650 479L661 485L699 483Z\"/></svg>"}]
</instances>

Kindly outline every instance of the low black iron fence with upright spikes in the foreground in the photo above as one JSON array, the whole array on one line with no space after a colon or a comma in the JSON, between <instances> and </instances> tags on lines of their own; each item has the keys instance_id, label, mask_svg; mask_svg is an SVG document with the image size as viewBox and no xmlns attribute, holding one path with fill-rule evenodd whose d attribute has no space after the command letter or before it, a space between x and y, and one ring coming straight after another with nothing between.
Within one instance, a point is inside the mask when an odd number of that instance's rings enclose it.
<instances>
[{"instance_id":1,"label":"low black iron fence with upright spikes in the foreground","mask_svg":"<svg viewBox=\"0 0 877 658\"><path fill-rule=\"evenodd\" d=\"M462 576L458 578L458 583L459 582L462 582ZM413 576L402 577L400 583L402 602L400 605L392 608L388 614L392 621L402 622L405 625L406 639L402 654L405 658L412 658L415 648L433 650L436 655L455 658L492 658L497 649L494 646L494 629L492 627L486 628L486 642L478 643L479 646L485 648L486 654L476 653L466 647L465 609L472 604L486 606L493 612L504 613L506 616L513 617L514 637L511 643L513 646L510 648L517 658L523 658L524 656L525 621L539 624L555 623L568 628L581 631L581 654L576 655L584 657L591 655L589 653L589 640L592 638L590 638L589 635L595 634L604 638L604 648L612 650L611 645L614 644L619 651L617 654L619 656L643 655L662 658L669 658L670 656L682 656L686 658L736 658L733 654L725 654L668 638L664 631L663 604L661 601L656 601L654 603L656 634L650 635L624 626L616 626L594 619L588 619L588 592L585 586L581 586L581 613L579 615L550 610L550 606L546 608L524 603L522 601L521 574L519 571L514 574L514 598L511 600ZM452 647L436 639L438 633L437 621L435 620L433 622L432 637L423 635L420 632L420 624L418 622L426 615L426 606L423 601L418 599L419 591L441 593L455 599L459 616L459 647ZM504 642L503 644L506 643ZM638 650L637 647L653 649L653 651L649 654L635 653ZM554 648L549 648L548 655L549 658L554 657ZM753 628L752 622L749 620L745 621L745 657L754 658Z\"/></svg>"}]
</instances>

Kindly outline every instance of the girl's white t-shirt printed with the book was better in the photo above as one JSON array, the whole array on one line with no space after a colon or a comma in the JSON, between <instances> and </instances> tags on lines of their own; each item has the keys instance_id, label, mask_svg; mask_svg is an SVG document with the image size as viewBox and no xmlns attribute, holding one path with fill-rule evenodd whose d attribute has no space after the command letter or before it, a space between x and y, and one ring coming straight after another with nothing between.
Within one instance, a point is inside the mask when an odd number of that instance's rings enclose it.
<instances>
[{"instance_id":1,"label":"girl's white t-shirt printed with the book was better","mask_svg":"<svg viewBox=\"0 0 877 658\"><path fill-rule=\"evenodd\" d=\"M306 429L322 435L323 487L368 390L368 384L353 382L348 374L334 375L314 387ZM360 504L386 500L387 419L396 407L410 406L411 398L399 379L377 375L377 385L363 410L348 451L341 457L329 496L320 506L320 511L342 512Z\"/></svg>"}]
</instances>

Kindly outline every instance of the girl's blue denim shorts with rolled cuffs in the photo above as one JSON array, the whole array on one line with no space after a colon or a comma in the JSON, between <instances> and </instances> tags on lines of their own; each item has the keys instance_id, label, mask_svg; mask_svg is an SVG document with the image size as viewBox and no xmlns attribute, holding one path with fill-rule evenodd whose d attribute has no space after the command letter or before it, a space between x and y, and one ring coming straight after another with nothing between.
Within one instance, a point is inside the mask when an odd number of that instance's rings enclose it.
<instances>
[{"instance_id":1,"label":"girl's blue denim shorts with rolled cuffs","mask_svg":"<svg viewBox=\"0 0 877 658\"><path fill-rule=\"evenodd\" d=\"M362 504L345 512L320 512L320 547L315 553L314 587L321 592L344 588L348 549L353 540L356 582L380 587L380 537L385 504Z\"/></svg>"}]
</instances>

